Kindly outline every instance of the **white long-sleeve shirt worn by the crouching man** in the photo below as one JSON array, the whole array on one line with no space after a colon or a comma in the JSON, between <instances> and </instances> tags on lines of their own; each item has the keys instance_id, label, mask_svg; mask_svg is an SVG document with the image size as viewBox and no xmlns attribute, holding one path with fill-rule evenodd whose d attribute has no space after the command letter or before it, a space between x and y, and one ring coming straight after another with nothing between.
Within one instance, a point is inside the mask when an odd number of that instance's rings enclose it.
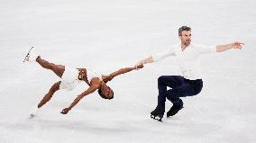
<instances>
[{"instance_id":1,"label":"white long-sleeve shirt worn by the crouching man","mask_svg":"<svg viewBox=\"0 0 256 143\"><path fill-rule=\"evenodd\" d=\"M178 58L178 65L183 76L189 80L202 79L201 62L199 56L202 54L215 53L216 46L205 46L197 44L189 44L182 51L181 44L174 45L172 48L152 55L154 61L159 61L162 58L174 56Z\"/></svg>"}]
</instances>

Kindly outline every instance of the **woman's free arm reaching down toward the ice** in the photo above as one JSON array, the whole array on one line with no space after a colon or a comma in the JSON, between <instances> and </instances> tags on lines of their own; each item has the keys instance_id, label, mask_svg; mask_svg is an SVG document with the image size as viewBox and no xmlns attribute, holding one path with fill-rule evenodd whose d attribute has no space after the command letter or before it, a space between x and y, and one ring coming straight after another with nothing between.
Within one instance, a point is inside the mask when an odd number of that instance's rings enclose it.
<instances>
[{"instance_id":1,"label":"woman's free arm reaching down toward the ice","mask_svg":"<svg viewBox=\"0 0 256 143\"><path fill-rule=\"evenodd\" d=\"M97 84L92 84L84 93L79 94L78 97L69 105L68 108L63 109L60 113L67 114L83 97L87 94L92 94L99 88L100 81L97 81Z\"/></svg>"}]
</instances>

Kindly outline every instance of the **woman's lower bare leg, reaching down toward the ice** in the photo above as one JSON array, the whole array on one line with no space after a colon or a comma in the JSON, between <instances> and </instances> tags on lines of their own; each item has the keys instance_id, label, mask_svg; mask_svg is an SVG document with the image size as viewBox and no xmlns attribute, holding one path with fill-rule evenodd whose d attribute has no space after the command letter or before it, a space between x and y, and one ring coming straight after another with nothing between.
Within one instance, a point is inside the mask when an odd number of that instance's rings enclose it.
<instances>
[{"instance_id":1,"label":"woman's lower bare leg, reaching down toward the ice","mask_svg":"<svg viewBox=\"0 0 256 143\"><path fill-rule=\"evenodd\" d=\"M42 98L41 102L38 104L38 108L41 108L42 105L44 105L45 103L50 101L50 98L52 97L52 95L59 90L59 85L60 85L61 81L55 83L54 85L52 85L50 87L50 90L47 94L44 95L44 97Z\"/></svg>"}]
</instances>

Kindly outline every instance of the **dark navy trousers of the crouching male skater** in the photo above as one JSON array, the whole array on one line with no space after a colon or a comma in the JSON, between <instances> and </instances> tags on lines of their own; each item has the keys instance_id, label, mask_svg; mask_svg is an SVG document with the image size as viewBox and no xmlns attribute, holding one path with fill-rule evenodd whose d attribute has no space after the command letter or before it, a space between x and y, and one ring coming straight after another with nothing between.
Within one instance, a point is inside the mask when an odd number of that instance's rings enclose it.
<instances>
[{"instance_id":1,"label":"dark navy trousers of the crouching male skater","mask_svg":"<svg viewBox=\"0 0 256 143\"><path fill-rule=\"evenodd\" d=\"M170 87L167 90L167 87ZM160 76L158 78L158 106L160 112L165 112L166 98L173 103L173 106L183 106L179 97L193 96L199 94L203 88L202 79L188 80L183 76Z\"/></svg>"}]
</instances>

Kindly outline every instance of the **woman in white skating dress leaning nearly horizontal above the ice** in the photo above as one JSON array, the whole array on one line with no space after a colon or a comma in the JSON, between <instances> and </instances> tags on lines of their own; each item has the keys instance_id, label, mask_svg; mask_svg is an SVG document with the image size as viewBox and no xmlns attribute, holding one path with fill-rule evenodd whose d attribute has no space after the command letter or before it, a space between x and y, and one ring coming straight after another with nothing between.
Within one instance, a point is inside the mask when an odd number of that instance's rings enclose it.
<instances>
[{"instance_id":1,"label":"woman in white skating dress leaning nearly horizontal above the ice","mask_svg":"<svg viewBox=\"0 0 256 143\"><path fill-rule=\"evenodd\" d=\"M28 52L24 61L32 61L37 62L41 67L50 69L57 76L61 78L61 81L55 83L50 87L50 90L47 94L44 95L41 102L38 104L38 107L34 112L32 112L31 117L35 115L37 109L41 108L42 105L50 101L52 95L60 89L72 90L74 89L81 81L84 81L89 86L85 92L79 94L78 97L74 100L73 103L69 105L68 108L63 109L60 113L67 114L83 97L88 94L94 93L96 90L98 94L104 99L113 99L114 92L113 90L105 85L107 82L111 81L115 76L119 76L124 73L128 73L134 69L142 68L142 65L136 67L125 67L121 68L114 73L104 76L98 74L94 71L91 71L87 68L70 68L62 65L56 65L50 63L49 61L41 58L36 52L35 49L32 48Z\"/></svg>"}]
</instances>

